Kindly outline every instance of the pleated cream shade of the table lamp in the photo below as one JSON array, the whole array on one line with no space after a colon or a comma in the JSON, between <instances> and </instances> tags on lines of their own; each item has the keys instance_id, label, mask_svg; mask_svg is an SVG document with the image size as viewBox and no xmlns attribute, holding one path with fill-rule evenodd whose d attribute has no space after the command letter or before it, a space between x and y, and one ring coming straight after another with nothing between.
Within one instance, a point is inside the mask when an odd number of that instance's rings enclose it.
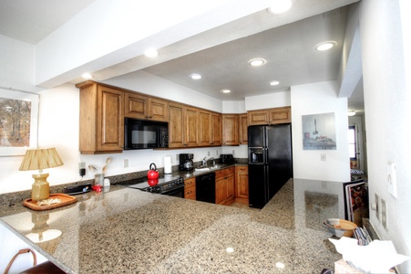
<instances>
[{"instance_id":1,"label":"pleated cream shade of the table lamp","mask_svg":"<svg viewBox=\"0 0 411 274\"><path fill-rule=\"evenodd\" d=\"M56 148L28 150L19 170L43 170L63 165Z\"/></svg>"}]
</instances>

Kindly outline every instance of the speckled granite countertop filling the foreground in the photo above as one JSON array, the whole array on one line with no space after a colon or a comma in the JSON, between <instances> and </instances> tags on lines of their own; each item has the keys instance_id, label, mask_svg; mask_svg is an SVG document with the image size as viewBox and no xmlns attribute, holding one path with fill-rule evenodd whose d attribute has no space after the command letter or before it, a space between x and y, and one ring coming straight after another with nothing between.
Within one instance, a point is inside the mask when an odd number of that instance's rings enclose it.
<instances>
[{"instance_id":1,"label":"speckled granite countertop filling the foreground","mask_svg":"<svg viewBox=\"0 0 411 274\"><path fill-rule=\"evenodd\" d=\"M120 185L52 210L1 207L6 227L68 273L320 273L342 258L322 225L344 217L334 182L292 179L261 210ZM34 244L25 235L38 227L62 234Z\"/></svg>"}]
</instances>

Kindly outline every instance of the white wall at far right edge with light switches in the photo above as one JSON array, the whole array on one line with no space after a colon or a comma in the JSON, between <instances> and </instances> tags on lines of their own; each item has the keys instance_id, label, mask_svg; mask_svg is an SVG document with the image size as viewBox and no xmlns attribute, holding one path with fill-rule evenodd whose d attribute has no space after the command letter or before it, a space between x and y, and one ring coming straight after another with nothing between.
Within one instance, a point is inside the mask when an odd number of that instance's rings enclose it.
<instances>
[{"instance_id":1,"label":"white wall at far right edge with light switches","mask_svg":"<svg viewBox=\"0 0 411 274\"><path fill-rule=\"evenodd\" d=\"M385 199L388 230L375 211L370 219L380 237L391 239L398 253L411 256L411 6L403 0L363 0L360 5L369 194L371 202L375 193ZM388 193L386 165L390 162L396 163L397 197ZM399 270L411 273L411 261Z\"/></svg>"}]
</instances>

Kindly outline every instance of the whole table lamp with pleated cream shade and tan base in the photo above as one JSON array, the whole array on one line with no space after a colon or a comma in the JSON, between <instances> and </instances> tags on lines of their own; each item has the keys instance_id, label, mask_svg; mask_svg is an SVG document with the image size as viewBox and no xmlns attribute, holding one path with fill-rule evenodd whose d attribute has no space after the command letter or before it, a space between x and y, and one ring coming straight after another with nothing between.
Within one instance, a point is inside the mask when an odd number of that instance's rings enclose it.
<instances>
[{"instance_id":1,"label":"whole table lamp with pleated cream shade and tan base","mask_svg":"<svg viewBox=\"0 0 411 274\"><path fill-rule=\"evenodd\" d=\"M56 148L28 150L19 170L38 170L38 174L33 174L35 179L31 190L31 199L40 201L48 199L49 184L46 180L48 174L43 174L43 169L63 165L58 156Z\"/></svg>"}]
</instances>

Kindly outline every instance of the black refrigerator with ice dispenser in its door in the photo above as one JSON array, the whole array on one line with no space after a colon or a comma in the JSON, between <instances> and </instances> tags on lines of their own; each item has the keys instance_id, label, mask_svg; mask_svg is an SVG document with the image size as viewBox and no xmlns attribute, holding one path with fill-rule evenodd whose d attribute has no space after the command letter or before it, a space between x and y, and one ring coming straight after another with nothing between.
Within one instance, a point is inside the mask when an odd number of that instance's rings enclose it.
<instances>
[{"instance_id":1,"label":"black refrigerator with ice dispenser in its door","mask_svg":"<svg viewBox=\"0 0 411 274\"><path fill-rule=\"evenodd\" d=\"M249 205L262 208L293 177L291 123L248 127Z\"/></svg>"}]
</instances>

